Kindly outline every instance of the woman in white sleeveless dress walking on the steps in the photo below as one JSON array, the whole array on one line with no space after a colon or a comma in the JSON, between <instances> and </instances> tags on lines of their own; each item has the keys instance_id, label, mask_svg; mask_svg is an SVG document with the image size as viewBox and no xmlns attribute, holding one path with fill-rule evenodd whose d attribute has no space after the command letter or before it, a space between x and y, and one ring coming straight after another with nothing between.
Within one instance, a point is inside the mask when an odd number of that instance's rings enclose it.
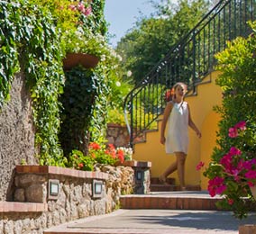
<instances>
[{"instance_id":1,"label":"woman in white sleeveless dress walking on the steps","mask_svg":"<svg viewBox=\"0 0 256 234\"><path fill-rule=\"evenodd\" d=\"M185 186L185 161L187 157L188 146L188 126L195 130L198 138L201 138L201 132L191 119L191 114L187 102L184 102L186 85L177 83L172 88L172 100L167 103L163 113L163 120L160 130L160 143L165 145L166 153L174 153L176 161L171 164L166 171L160 175L160 182L166 184L168 175L178 170L178 179L181 190L186 190ZM165 129L168 124L167 138L165 138Z\"/></svg>"}]
</instances>

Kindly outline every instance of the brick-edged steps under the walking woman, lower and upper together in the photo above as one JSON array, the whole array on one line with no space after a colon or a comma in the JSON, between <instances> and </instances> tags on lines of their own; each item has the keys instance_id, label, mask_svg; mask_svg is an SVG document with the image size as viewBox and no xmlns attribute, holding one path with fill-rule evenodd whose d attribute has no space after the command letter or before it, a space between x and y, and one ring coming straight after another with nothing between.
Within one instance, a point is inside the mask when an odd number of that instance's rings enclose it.
<instances>
[{"instance_id":1,"label":"brick-edged steps under the walking woman, lower and upper together","mask_svg":"<svg viewBox=\"0 0 256 234\"><path fill-rule=\"evenodd\" d=\"M168 184L161 184L158 178L151 178L151 192L147 194L123 195L120 199L123 209L172 209L218 211L215 203L221 197L212 198L198 185L187 185L187 191L180 191L175 179L168 178Z\"/></svg>"}]
</instances>

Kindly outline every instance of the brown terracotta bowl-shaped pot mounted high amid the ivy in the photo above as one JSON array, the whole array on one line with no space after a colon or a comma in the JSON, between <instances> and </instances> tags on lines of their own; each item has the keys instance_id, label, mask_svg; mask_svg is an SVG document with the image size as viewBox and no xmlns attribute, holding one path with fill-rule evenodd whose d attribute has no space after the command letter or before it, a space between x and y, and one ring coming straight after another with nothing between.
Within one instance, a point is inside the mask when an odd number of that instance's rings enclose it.
<instances>
[{"instance_id":1,"label":"brown terracotta bowl-shaped pot mounted high amid the ivy","mask_svg":"<svg viewBox=\"0 0 256 234\"><path fill-rule=\"evenodd\" d=\"M84 53L68 53L63 59L64 70L70 70L73 67L81 65L85 68L94 68L99 62L99 58L94 55Z\"/></svg>"}]
</instances>

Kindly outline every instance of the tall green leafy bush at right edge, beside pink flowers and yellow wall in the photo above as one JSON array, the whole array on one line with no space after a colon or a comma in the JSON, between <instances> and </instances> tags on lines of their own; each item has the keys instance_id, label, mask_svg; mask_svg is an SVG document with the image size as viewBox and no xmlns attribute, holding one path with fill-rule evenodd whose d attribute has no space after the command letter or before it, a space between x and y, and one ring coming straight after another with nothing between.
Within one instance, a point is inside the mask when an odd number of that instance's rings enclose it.
<instances>
[{"instance_id":1,"label":"tall green leafy bush at right edge, beside pink flowers and yellow wall","mask_svg":"<svg viewBox=\"0 0 256 234\"><path fill-rule=\"evenodd\" d=\"M255 33L256 22L250 25ZM231 207L234 216L240 219L246 217L247 212L250 211L250 206L242 197L249 196L253 201L249 185L245 183L248 179L244 178L244 173L247 169L255 171L256 38L254 33L247 39L239 37L227 42L227 48L216 55L218 59L216 69L221 71L216 84L223 89L224 98L222 105L216 106L215 111L221 114L222 120L219 121L217 147L213 153L212 162L204 174L211 180L218 176L223 181L221 185L226 186L222 192L225 200L219 205ZM231 126L235 126L239 121L246 122L246 132L240 138L228 137L234 129L230 129ZM224 160L224 156L233 147L242 151L242 154L236 153L232 157L235 166L232 167L233 172L238 167L236 176L228 174L224 166L220 165L221 160ZM251 167L247 165L246 168L241 168L244 161L250 162Z\"/></svg>"}]
</instances>

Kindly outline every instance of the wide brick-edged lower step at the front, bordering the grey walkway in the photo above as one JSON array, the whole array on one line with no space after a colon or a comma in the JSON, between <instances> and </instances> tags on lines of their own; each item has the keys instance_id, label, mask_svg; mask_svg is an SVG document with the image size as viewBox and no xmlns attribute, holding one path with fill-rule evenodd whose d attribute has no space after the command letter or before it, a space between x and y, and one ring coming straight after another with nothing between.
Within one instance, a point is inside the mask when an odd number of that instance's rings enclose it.
<instances>
[{"instance_id":1,"label":"wide brick-edged lower step at the front, bordering the grey walkway","mask_svg":"<svg viewBox=\"0 0 256 234\"><path fill-rule=\"evenodd\" d=\"M205 191L158 192L123 195L120 204L122 209L218 211L215 203L221 199L221 197L213 198Z\"/></svg>"}]
</instances>

